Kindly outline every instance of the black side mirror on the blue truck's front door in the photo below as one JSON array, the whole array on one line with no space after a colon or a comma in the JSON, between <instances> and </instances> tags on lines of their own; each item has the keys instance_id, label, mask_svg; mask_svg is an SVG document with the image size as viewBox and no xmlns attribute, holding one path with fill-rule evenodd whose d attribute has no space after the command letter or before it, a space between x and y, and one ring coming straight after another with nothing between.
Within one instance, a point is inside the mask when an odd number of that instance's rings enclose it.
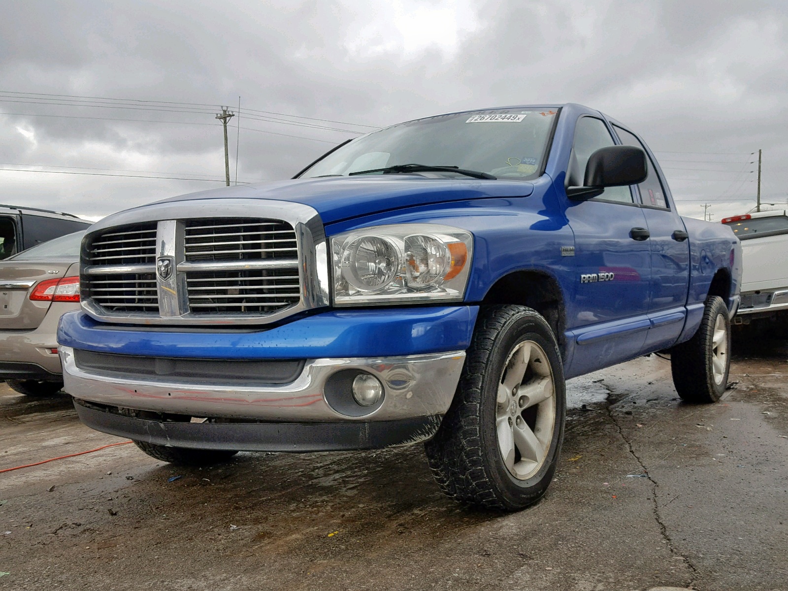
<instances>
[{"instance_id":1,"label":"black side mirror on the blue truck's front door","mask_svg":"<svg viewBox=\"0 0 788 591\"><path fill-rule=\"evenodd\" d=\"M601 195L605 187L623 187L642 183L649 176L645 152L634 146L600 148L585 165L582 187L567 187L570 199L591 199Z\"/></svg>"}]
</instances>

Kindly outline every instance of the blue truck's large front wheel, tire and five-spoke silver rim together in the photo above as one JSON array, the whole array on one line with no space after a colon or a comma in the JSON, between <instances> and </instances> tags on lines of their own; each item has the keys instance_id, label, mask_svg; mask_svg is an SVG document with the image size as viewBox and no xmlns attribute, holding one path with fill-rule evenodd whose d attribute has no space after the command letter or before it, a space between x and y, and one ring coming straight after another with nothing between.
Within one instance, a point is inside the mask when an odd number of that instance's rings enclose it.
<instances>
[{"instance_id":1,"label":"blue truck's large front wheel, tire and five-spoke silver rim together","mask_svg":"<svg viewBox=\"0 0 788 591\"><path fill-rule=\"evenodd\" d=\"M426 443L440 489L464 504L519 511L556 470L566 397L556 337L522 306L481 311L463 375Z\"/></svg>"}]
</instances>

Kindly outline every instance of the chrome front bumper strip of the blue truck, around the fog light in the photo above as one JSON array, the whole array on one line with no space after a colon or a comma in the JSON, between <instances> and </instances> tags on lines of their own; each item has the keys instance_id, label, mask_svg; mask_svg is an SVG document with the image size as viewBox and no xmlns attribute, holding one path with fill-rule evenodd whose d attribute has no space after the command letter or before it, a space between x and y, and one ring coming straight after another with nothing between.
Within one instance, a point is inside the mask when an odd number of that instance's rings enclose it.
<instances>
[{"instance_id":1,"label":"chrome front bumper strip of the blue truck, around the fog light","mask_svg":"<svg viewBox=\"0 0 788 591\"><path fill-rule=\"evenodd\" d=\"M82 370L72 348L61 347L65 391L111 407L196 418L258 422L383 422L443 415L452 403L465 351L377 359L312 359L289 384L266 388L177 383L155 375L129 379L110 371ZM370 414L348 416L329 405L325 382L340 370L362 370L384 385L383 403Z\"/></svg>"}]
</instances>

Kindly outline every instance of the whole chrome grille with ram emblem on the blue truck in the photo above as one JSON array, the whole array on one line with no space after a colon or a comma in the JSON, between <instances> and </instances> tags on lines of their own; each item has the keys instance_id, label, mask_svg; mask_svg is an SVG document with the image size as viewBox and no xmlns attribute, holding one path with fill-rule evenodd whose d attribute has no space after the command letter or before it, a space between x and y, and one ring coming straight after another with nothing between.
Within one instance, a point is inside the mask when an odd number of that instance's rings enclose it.
<instances>
[{"instance_id":1,"label":"whole chrome grille with ram emblem on the blue truck","mask_svg":"<svg viewBox=\"0 0 788 591\"><path fill-rule=\"evenodd\" d=\"M305 296L302 273L314 268L314 243L310 235L312 252L302 265L301 240L295 225L264 217L169 219L99 230L84 251L83 305L118 322L272 322L321 301Z\"/></svg>"}]
</instances>

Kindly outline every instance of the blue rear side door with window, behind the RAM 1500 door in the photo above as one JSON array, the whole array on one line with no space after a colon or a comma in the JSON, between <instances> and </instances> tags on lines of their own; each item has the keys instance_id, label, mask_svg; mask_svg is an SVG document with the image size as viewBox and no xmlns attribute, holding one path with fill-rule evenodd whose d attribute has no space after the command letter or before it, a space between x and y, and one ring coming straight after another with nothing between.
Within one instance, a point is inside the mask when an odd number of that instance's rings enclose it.
<instances>
[{"instance_id":1,"label":"blue rear side door with window, behind the RAM 1500 door","mask_svg":"<svg viewBox=\"0 0 788 591\"><path fill-rule=\"evenodd\" d=\"M670 347L684 326L689 289L689 240L682 218L671 207L667 187L663 185L655 162L645 143L634 133L613 125L621 143L642 148L647 154L649 176L634 187L645 215L651 243L651 286L649 319L645 350Z\"/></svg>"}]
</instances>

